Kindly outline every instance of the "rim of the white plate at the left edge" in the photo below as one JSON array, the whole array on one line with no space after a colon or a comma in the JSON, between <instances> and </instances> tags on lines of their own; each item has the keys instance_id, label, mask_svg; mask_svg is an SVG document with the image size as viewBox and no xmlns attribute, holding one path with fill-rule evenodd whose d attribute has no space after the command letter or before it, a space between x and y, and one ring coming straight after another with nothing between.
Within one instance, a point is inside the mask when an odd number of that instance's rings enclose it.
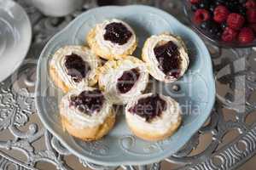
<instances>
[{"instance_id":1,"label":"rim of the white plate at the left edge","mask_svg":"<svg viewBox=\"0 0 256 170\"><path fill-rule=\"evenodd\" d=\"M29 16L28 14L26 14L26 10L20 6L19 3L16 3L14 1L4 1L5 3L12 3L14 4L16 7L20 8L20 13L23 13L24 14L24 17L26 19L26 22L27 22L27 28L28 28L28 33L29 33L29 38L28 38L28 45L26 46L26 49L24 50L24 55L22 57L19 57L19 61L15 62L15 65L14 67L9 71L8 74L6 74L5 76L3 76L2 79L0 79L0 82L4 82L8 77L12 76L15 71L17 71L20 66L22 65L23 61L26 59L26 55L28 54L28 51L30 49L30 46L31 46L31 43L32 43L32 23L31 23L31 20L29 19ZM22 40L20 40L22 41ZM20 56L20 55L19 55ZM1 59L0 59L1 61Z\"/></svg>"}]
</instances>

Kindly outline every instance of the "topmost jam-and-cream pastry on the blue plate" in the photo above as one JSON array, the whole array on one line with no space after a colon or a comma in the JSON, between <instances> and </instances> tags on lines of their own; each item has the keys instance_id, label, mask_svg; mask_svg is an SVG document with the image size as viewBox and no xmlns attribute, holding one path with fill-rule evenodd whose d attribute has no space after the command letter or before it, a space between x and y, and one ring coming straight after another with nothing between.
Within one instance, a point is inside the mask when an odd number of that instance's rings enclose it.
<instances>
[{"instance_id":1,"label":"topmost jam-and-cream pastry on the blue plate","mask_svg":"<svg viewBox=\"0 0 256 170\"><path fill-rule=\"evenodd\" d=\"M137 37L122 20L105 20L87 35L90 48L104 59L122 59L137 48Z\"/></svg>"}]
</instances>

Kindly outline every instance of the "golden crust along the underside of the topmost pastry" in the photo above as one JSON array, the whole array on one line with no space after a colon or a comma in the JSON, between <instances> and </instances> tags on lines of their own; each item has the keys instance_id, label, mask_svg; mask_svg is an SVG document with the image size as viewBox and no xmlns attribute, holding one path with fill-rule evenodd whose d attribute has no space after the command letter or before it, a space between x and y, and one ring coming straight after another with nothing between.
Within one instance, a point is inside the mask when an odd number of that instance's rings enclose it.
<instances>
[{"instance_id":1,"label":"golden crust along the underside of the topmost pastry","mask_svg":"<svg viewBox=\"0 0 256 170\"><path fill-rule=\"evenodd\" d=\"M137 48L137 41L127 49L124 54L111 54L108 51L102 50L101 46L96 42L96 28L89 31L86 40L91 50L102 57L103 59L124 59L127 55L131 55Z\"/></svg>"}]
</instances>

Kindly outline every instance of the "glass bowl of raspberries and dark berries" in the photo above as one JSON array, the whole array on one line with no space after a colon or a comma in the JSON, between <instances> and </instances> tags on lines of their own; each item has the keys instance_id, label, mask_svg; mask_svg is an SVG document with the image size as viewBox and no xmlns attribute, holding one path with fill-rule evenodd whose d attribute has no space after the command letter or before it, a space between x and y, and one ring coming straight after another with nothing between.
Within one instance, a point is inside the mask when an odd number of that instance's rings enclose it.
<instances>
[{"instance_id":1,"label":"glass bowl of raspberries and dark berries","mask_svg":"<svg viewBox=\"0 0 256 170\"><path fill-rule=\"evenodd\" d=\"M256 0L184 0L184 12L195 30L215 45L256 46Z\"/></svg>"}]
</instances>

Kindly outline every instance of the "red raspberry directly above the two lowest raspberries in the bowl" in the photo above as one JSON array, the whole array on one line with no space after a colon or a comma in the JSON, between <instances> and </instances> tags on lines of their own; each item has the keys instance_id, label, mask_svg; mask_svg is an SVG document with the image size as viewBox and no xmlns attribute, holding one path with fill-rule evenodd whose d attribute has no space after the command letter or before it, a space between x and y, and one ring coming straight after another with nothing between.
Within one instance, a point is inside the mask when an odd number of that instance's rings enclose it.
<instances>
[{"instance_id":1,"label":"red raspberry directly above the two lowest raspberries in the bowl","mask_svg":"<svg viewBox=\"0 0 256 170\"><path fill-rule=\"evenodd\" d=\"M244 17L241 14L232 13L229 14L227 24L234 30L240 30L245 22Z\"/></svg>"}]
</instances>

